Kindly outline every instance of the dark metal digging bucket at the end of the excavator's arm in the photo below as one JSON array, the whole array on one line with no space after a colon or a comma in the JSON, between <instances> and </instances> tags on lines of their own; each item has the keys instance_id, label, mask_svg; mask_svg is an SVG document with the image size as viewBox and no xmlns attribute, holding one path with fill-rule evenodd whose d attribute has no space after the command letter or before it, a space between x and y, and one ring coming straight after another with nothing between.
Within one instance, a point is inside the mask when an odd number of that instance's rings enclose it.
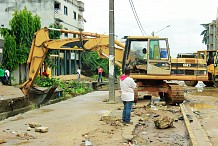
<instances>
[{"instance_id":1,"label":"dark metal digging bucket at the end of the excavator's arm","mask_svg":"<svg viewBox=\"0 0 218 146\"><path fill-rule=\"evenodd\" d=\"M48 102L51 99L51 96L55 92L57 88L57 85L54 85L51 88L48 88L46 90L32 88L29 90L29 100L31 103L34 103L36 105L41 105L46 102Z\"/></svg>"}]
</instances>

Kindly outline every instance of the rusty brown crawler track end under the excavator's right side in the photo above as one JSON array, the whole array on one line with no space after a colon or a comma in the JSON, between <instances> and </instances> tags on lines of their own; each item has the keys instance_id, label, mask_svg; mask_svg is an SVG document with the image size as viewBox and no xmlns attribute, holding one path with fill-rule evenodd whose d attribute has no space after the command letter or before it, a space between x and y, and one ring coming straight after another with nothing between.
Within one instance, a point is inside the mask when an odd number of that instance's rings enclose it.
<instances>
[{"instance_id":1,"label":"rusty brown crawler track end under the excavator's right side","mask_svg":"<svg viewBox=\"0 0 218 146\"><path fill-rule=\"evenodd\" d=\"M166 96L168 104L178 104L184 101L184 89L176 83L168 83L169 91Z\"/></svg>"}]
</instances>

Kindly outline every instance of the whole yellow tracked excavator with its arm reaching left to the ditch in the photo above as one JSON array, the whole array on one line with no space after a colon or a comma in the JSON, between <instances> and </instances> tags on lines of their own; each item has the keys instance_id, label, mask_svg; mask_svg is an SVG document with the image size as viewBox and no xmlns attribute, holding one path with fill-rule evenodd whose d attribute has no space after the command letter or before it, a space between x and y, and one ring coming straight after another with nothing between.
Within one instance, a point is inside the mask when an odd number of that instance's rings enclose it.
<instances>
[{"instance_id":1,"label":"whole yellow tracked excavator with its arm reaching left to the ditch","mask_svg":"<svg viewBox=\"0 0 218 146\"><path fill-rule=\"evenodd\" d=\"M98 52L102 58L109 56L109 36L96 33L71 30L57 30L62 33L77 34L77 38L51 40L50 28L42 28L35 33L27 65L28 80L20 89L30 101L37 104L47 102L56 86L41 91L33 86L34 79L49 49L76 50L84 49ZM208 81L207 63L204 59L171 58L167 38L156 36L126 36L125 45L115 40L115 64L122 68L130 67L130 76L137 82L136 96L152 94L167 99L169 103L181 103L184 100L183 88L171 80ZM66 48L71 43L70 48Z\"/></svg>"}]
</instances>

